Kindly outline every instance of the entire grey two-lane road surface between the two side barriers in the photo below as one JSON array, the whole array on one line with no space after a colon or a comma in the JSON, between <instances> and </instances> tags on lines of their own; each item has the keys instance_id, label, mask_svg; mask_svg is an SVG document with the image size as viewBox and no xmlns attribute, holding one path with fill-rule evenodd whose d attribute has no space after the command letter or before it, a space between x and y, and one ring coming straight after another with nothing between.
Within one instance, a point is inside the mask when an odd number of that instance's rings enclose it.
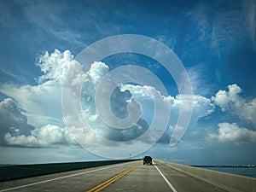
<instances>
[{"instance_id":1,"label":"entire grey two-lane road surface between the two side barriers","mask_svg":"<svg viewBox=\"0 0 256 192\"><path fill-rule=\"evenodd\" d=\"M224 192L155 160L133 161L0 183L3 191L173 191Z\"/></svg>"}]
</instances>

